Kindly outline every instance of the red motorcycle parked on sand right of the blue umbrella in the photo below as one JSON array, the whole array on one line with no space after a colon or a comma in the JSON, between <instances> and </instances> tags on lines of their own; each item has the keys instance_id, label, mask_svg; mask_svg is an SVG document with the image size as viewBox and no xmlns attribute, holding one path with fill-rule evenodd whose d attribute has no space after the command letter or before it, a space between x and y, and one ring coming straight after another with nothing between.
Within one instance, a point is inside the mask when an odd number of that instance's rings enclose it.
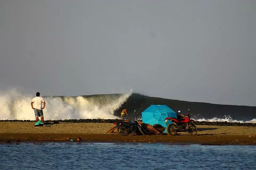
<instances>
[{"instance_id":1,"label":"red motorcycle parked on sand right of the blue umbrella","mask_svg":"<svg viewBox=\"0 0 256 170\"><path fill-rule=\"evenodd\" d=\"M189 111L190 109L188 109ZM168 135L177 135L178 132L185 131L187 129L190 135L197 134L197 126L193 123L194 120L190 119L190 113L187 112L186 115L178 116L179 119L174 117L165 118L165 123L170 120L172 123L168 124L166 127L166 131Z\"/></svg>"}]
</instances>

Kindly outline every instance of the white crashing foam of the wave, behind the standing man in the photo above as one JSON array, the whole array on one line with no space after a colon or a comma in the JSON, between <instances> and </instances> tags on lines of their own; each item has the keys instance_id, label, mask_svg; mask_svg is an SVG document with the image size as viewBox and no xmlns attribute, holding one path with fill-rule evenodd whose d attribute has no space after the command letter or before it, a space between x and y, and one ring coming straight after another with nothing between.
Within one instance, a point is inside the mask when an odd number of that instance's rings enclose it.
<instances>
[{"instance_id":1,"label":"white crashing foam of the wave, behind the standing man","mask_svg":"<svg viewBox=\"0 0 256 170\"><path fill-rule=\"evenodd\" d=\"M44 119L116 119L119 117L114 115L114 111L130 95L42 96L46 102ZM34 97L21 94L16 89L0 93L0 120L35 120L30 105L32 98Z\"/></svg>"}]
</instances>

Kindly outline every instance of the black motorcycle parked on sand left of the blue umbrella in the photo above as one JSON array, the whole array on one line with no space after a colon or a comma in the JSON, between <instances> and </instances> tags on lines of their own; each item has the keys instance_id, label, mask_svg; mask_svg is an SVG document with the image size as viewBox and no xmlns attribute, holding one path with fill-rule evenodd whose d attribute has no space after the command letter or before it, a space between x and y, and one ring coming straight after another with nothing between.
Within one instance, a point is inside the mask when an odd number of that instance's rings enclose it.
<instances>
[{"instance_id":1,"label":"black motorcycle parked on sand left of the blue umbrella","mask_svg":"<svg viewBox=\"0 0 256 170\"><path fill-rule=\"evenodd\" d=\"M141 124L137 120L137 115L136 110L134 111L135 113L135 120L129 120L128 122L123 122L117 123L115 122L114 124L116 125L115 128L117 128L117 131L120 135L122 136L127 136L130 133L138 133L140 132L142 135L147 135L147 131L141 126Z\"/></svg>"}]
</instances>

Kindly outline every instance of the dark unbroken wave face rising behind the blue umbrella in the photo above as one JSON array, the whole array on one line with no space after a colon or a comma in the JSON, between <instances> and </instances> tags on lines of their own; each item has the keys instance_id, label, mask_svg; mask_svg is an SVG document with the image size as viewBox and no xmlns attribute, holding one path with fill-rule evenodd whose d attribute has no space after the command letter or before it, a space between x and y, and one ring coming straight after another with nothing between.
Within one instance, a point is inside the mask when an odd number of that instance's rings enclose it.
<instances>
[{"instance_id":1,"label":"dark unbroken wave face rising behind the blue umbrella","mask_svg":"<svg viewBox=\"0 0 256 170\"><path fill-rule=\"evenodd\" d=\"M166 98L149 97L136 93L133 93L127 99L125 105L126 107L128 106L130 112L136 109L138 113L141 113L152 104L167 105L173 111L177 112L180 110L181 114L186 114L187 110L190 109L192 118L197 121L256 123L255 106L236 106L202 102L189 102ZM125 106L121 106L121 109L124 107ZM134 114L130 114L129 116L129 118L132 118L134 117Z\"/></svg>"}]
</instances>

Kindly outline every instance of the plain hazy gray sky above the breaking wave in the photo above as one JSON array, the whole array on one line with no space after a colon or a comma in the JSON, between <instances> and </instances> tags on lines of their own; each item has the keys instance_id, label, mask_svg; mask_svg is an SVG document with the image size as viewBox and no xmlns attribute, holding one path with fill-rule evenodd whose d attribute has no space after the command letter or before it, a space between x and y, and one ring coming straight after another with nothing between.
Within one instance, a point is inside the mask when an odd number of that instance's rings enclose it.
<instances>
[{"instance_id":1,"label":"plain hazy gray sky above the breaking wave","mask_svg":"<svg viewBox=\"0 0 256 170\"><path fill-rule=\"evenodd\" d=\"M256 1L0 0L0 90L256 106Z\"/></svg>"}]
</instances>

